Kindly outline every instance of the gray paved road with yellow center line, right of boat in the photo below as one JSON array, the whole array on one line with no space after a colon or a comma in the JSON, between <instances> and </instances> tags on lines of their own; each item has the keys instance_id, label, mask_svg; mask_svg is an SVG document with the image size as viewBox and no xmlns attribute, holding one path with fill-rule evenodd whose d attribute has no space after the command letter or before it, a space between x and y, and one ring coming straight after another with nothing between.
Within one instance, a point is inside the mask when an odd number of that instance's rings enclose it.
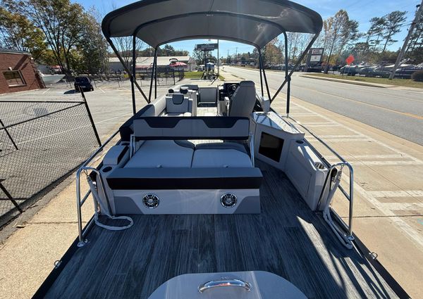
<instances>
[{"instance_id":1,"label":"gray paved road with yellow center line, right of boat","mask_svg":"<svg viewBox=\"0 0 423 299\"><path fill-rule=\"evenodd\" d=\"M259 83L257 70L225 66L226 72ZM269 87L277 89L281 72L266 72ZM283 89L285 91L285 88ZM423 90L363 87L300 77L295 73L291 94L335 113L423 145Z\"/></svg>"}]
</instances>

